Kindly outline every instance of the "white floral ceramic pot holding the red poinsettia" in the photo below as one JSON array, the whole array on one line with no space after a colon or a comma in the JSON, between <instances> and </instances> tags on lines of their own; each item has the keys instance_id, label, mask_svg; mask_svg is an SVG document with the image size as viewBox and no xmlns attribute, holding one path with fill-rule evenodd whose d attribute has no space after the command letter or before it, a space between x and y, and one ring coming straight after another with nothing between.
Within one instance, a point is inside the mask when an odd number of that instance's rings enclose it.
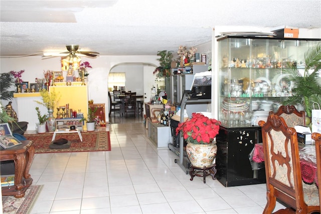
<instances>
[{"instance_id":1,"label":"white floral ceramic pot holding the red poinsettia","mask_svg":"<svg viewBox=\"0 0 321 214\"><path fill-rule=\"evenodd\" d=\"M214 158L217 153L216 141L211 144L193 144L188 142L186 145L186 153L195 167L203 168L213 165Z\"/></svg>"}]
</instances>

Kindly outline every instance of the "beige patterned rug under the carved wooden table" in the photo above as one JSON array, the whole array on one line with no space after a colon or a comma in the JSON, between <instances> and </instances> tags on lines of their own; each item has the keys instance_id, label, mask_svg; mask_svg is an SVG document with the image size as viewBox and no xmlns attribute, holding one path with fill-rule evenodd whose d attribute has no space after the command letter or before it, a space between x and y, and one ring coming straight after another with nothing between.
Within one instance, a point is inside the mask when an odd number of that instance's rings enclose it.
<instances>
[{"instance_id":1,"label":"beige patterned rug under the carved wooden table","mask_svg":"<svg viewBox=\"0 0 321 214\"><path fill-rule=\"evenodd\" d=\"M3 212L6 214L30 213L42 188L43 185L30 186L22 198L2 196Z\"/></svg>"}]
</instances>

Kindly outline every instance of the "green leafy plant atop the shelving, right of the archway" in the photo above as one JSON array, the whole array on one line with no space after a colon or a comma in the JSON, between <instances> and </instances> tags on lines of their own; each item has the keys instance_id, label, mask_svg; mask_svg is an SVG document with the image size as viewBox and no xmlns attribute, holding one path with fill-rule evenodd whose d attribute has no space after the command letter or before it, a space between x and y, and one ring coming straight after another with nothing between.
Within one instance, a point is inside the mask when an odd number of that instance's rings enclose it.
<instances>
[{"instance_id":1,"label":"green leafy plant atop the shelving, right of the archway","mask_svg":"<svg viewBox=\"0 0 321 214\"><path fill-rule=\"evenodd\" d=\"M157 59L159 61L159 67L155 68L153 74L157 74L158 77L163 77L163 76L170 76L170 68L171 68L171 63L173 59L173 51L158 51L157 56L160 56L161 58Z\"/></svg>"}]
</instances>

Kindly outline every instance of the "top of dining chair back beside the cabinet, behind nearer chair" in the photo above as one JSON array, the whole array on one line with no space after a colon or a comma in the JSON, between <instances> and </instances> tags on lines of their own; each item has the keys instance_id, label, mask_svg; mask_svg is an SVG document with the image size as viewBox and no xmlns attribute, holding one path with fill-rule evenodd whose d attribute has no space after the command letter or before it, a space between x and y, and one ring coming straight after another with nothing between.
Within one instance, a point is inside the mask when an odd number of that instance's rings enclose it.
<instances>
[{"instance_id":1,"label":"top of dining chair back beside the cabinet, behind nearer chair","mask_svg":"<svg viewBox=\"0 0 321 214\"><path fill-rule=\"evenodd\" d=\"M294 105L281 105L274 114L282 117L288 127L305 126L305 112L297 111Z\"/></svg>"}]
</instances>

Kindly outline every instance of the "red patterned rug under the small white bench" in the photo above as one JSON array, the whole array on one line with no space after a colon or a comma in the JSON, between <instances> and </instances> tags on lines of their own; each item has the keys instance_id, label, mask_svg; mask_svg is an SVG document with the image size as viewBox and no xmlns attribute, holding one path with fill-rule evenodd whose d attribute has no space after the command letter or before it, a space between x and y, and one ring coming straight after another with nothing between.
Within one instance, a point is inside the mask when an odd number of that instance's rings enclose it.
<instances>
[{"instance_id":1,"label":"red patterned rug under the small white bench","mask_svg":"<svg viewBox=\"0 0 321 214\"><path fill-rule=\"evenodd\" d=\"M110 151L109 132L82 132L82 142L78 133L57 134L55 140L59 138L71 141L67 149L50 149L53 133L44 134L25 134L25 138L32 140L35 147L35 153L52 153L52 152L93 152L93 151Z\"/></svg>"}]
</instances>

